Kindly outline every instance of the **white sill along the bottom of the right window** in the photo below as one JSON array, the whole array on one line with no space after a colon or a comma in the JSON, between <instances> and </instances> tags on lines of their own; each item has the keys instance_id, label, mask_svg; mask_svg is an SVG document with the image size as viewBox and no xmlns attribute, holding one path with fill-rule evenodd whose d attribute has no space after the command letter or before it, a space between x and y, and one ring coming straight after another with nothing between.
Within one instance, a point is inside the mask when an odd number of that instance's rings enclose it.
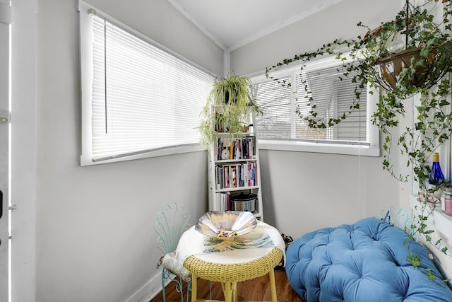
<instances>
[{"instance_id":1,"label":"white sill along the bottom of the right window","mask_svg":"<svg viewBox=\"0 0 452 302\"><path fill-rule=\"evenodd\" d=\"M259 141L259 149L332 153L356 156L380 156L378 146L309 143L306 141Z\"/></svg>"}]
</instances>

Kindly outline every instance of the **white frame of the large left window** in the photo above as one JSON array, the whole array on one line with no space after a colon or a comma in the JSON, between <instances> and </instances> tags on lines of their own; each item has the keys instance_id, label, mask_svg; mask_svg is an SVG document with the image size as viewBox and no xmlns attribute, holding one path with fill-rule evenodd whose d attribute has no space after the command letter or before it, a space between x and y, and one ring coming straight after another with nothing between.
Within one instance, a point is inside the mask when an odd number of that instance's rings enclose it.
<instances>
[{"instance_id":1,"label":"white frame of the large left window","mask_svg":"<svg viewBox=\"0 0 452 302\"><path fill-rule=\"evenodd\" d=\"M103 13L92 5L85 3L84 1L79 1L78 13L80 18L80 58L81 58L81 156L80 156L80 164L84 165L97 165L102 163L114 163L118 161L131 161L140 158L152 158L157 156L168 156L179 153L189 153L196 151L204 151L205 148L199 143L194 142L193 144L183 144L183 145L174 145L174 146L165 146L162 148L149 149L148 151L140 151L139 153L129 153L126 155L120 156L111 156L108 159L102 159L93 161L93 134L92 134L92 105L91 105L91 95L93 93L93 60L92 60L92 35L91 33L91 16L90 13L95 13L95 15L100 16L101 18L105 18L109 23L125 30L138 37L138 39L144 40L148 42L153 47L156 47L163 52L166 52L172 57L175 57L186 64L193 66L196 69L203 71L204 73L212 76L212 80L215 78L215 74L212 74L210 71L198 66L194 62L191 62L189 59L182 57L180 54L169 50L169 48L160 45L149 37L139 33L137 30L133 30L133 28L128 25L121 23L117 19L112 16ZM88 35L88 36L83 36ZM206 100L208 95L206 95ZM205 103L206 100L203 100L202 103ZM200 112L201 112L200 108Z\"/></svg>"}]
</instances>

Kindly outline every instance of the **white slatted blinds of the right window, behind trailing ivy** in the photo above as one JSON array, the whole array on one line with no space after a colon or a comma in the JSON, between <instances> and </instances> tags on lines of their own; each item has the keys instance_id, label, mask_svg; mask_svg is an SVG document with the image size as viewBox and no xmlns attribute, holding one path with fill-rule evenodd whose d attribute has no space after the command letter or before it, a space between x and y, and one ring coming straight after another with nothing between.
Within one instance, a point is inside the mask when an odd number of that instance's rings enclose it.
<instances>
[{"instance_id":1,"label":"white slatted blinds of the right window, behind trailing ivy","mask_svg":"<svg viewBox=\"0 0 452 302\"><path fill-rule=\"evenodd\" d=\"M339 69L339 70L338 70ZM343 79L341 80L340 77ZM339 124L326 129L309 127L304 116L309 115L310 102L316 104L318 117L338 118L350 111L355 100L352 80L343 76L340 66L319 66L315 69L291 69L278 76L278 81L266 79L254 83L253 93L263 115L258 115L258 134L262 140L310 141L327 144L369 145L367 131L367 90L362 91L359 109ZM305 88L305 83L307 84ZM288 85L290 83L290 85ZM311 100L310 100L311 99ZM300 117L299 115L302 115Z\"/></svg>"}]
</instances>

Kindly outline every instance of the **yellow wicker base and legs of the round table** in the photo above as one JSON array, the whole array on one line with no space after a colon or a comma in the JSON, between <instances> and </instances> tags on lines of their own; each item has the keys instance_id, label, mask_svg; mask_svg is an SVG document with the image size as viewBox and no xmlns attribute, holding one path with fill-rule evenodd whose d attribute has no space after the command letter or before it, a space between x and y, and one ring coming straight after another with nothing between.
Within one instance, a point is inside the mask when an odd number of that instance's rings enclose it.
<instances>
[{"instance_id":1,"label":"yellow wicker base and legs of the round table","mask_svg":"<svg viewBox=\"0 0 452 302\"><path fill-rule=\"evenodd\" d=\"M237 282L254 279L265 274L268 274L270 278L271 302L277 302L275 272L273 269L278 265L282 257L283 251L278 248L273 248L266 255L255 260L238 264L214 263L201 260L196 256L188 257L184 262L184 267L192 274L191 302L218 301L197 299L197 277L220 282L225 294L225 302L237 302Z\"/></svg>"}]
</instances>

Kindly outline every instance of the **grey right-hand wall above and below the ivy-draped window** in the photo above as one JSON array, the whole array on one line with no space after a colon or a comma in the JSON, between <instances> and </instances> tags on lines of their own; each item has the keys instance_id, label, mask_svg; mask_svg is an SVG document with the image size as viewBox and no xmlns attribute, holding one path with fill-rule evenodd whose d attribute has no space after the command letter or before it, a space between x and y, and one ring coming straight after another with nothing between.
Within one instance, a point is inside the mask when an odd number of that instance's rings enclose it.
<instances>
[{"instance_id":1,"label":"grey right-hand wall above and below the ivy-draped window","mask_svg":"<svg viewBox=\"0 0 452 302\"><path fill-rule=\"evenodd\" d=\"M336 38L364 35L359 21L375 28L402 6L402 1L394 0L340 1L232 51L231 68L237 74L263 74L266 66L314 51ZM273 150L261 150L260 155L266 221L294 238L373 216L405 197L404 185L383 171L381 157ZM408 199L403 205L408 206Z\"/></svg>"}]
</instances>

